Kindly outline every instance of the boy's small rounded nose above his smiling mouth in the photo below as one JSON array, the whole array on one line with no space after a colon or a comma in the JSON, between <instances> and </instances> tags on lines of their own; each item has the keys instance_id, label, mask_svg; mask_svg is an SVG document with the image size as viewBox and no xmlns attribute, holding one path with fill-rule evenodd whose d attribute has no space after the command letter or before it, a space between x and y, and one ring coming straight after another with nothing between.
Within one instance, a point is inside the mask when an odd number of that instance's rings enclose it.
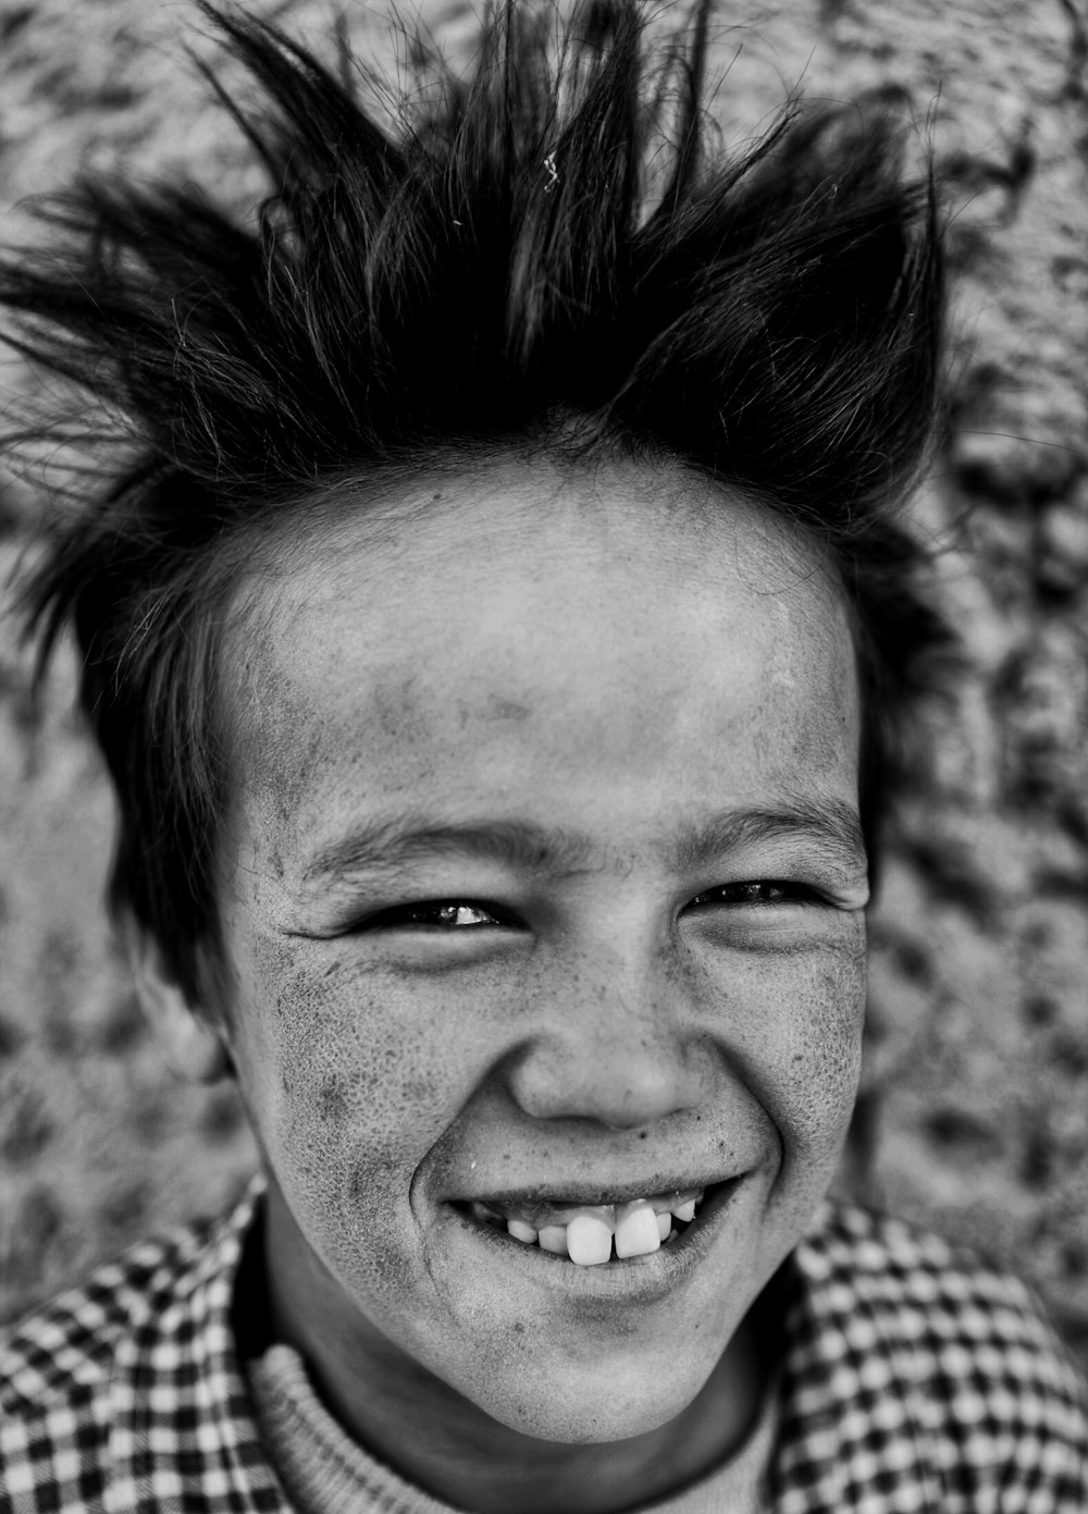
<instances>
[{"instance_id":1,"label":"boy's small rounded nose above his smiling mouth","mask_svg":"<svg viewBox=\"0 0 1088 1514\"><path fill-rule=\"evenodd\" d=\"M654 963L614 960L572 974L536 1016L536 1034L510 1069L510 1093L533 1119L651 1125L707 1096L708 1048L684 995Z\"/></svg>"}]
</instances>

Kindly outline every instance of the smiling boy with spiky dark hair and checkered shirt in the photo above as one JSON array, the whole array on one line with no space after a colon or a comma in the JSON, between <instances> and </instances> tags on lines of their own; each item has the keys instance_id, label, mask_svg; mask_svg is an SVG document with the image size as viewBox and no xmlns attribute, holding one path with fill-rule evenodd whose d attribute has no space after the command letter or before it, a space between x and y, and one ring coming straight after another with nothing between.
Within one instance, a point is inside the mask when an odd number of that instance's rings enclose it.
<instances>
[{"instance_id":1,"label":"smiling boy with spiky dark hair and checkered shirt","mask_svg":"<svg viewBox=\"0 0 1088 1514\"><path fill-rule=\"evenodd\" d=\"M849 114L705 162L705 9L652 77L511 5L398 141L218 24L256 232L91 183L0 292L123 418L29 616L265 1181L9 1332L0 1508L1083 1509L1023 1288L820 1207L943 643L931 195Z\"/></svg>"}]
</instances>

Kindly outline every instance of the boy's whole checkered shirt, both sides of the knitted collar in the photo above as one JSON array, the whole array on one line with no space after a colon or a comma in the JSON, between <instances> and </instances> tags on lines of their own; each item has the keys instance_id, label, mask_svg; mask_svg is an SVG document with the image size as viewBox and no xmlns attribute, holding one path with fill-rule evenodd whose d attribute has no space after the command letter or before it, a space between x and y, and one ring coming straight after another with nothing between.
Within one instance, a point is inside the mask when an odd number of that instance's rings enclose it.
<instances>
[{"instance_id":1,"label":"boy's whole checkered shirt, both sides of the knitted collar","mask_svg":"<svg viewBox=\"0 0 1088 1514\"><path fill-rule=\"evenodd\" d=\"M230 1326L257 1193L0 1335L0 1514L291 1514ZM1020 1282L828 1204L776 1287L775 1514L1088 1514L1085 1388Z\"/></svg>"}]
</instances>

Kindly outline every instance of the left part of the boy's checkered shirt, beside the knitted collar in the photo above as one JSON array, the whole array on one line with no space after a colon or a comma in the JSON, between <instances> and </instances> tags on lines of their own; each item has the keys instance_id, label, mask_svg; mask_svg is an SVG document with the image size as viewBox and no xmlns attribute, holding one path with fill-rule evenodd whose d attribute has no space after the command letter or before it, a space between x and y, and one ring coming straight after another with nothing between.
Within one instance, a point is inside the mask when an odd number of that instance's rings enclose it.
<instances>
[{"instance_id":1,"label":"left part of the boy's checkered shirt, beside the knitted collar","mask_svg":"<svg viewBox=\"0 0 1088 1514\"><path fill-rule=\"evenodd\" d=\"M192 1455L198 1419L253 1467L244 1494L268 1482L230 1335L251 1214L247 1196L225 1219L145 1241L0 1332L0 1514L177 1506L182 1482L224 1481ZM238 1491L224 1484L225 1502L200 1506L256 1506Z\"/></svg>"}]
</instances>

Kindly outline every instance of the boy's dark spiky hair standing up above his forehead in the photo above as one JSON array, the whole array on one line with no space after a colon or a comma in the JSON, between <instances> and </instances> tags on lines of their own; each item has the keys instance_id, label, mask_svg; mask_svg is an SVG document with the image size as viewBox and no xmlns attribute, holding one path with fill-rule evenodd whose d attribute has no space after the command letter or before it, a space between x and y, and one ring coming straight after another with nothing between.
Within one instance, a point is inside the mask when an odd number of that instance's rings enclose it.
<instances>
[{"instance_id":1,"label":"boy's dark spiky hair standing up above his forehead","mask_svg":"<svg viewBox=\"0 0 1088 1514\"><path fill-rule=\"evenodd\" d=\"M67 628L82 656L120 801L113 911L200 1002L227 795L216 656L254 534L337 478L510 448L676 457L826 540L855 618L872 845L894 721L943 636L893 509L941 344L932 185L905 182L897 129L794 101L743 154L707 153L710 0L657 53L639 0L592 0L558 48L548 5L505 0L471 74L436 64L396 133L348 70L201 11L266 100L257 118L209 73L268 173L256 224L191 185L98 177L44 201L45 248L0 265L12 344L103 416L91 438L61 416L21 435L92 463L23 609L42 666Z\"/></svg>"}]
</instances>

